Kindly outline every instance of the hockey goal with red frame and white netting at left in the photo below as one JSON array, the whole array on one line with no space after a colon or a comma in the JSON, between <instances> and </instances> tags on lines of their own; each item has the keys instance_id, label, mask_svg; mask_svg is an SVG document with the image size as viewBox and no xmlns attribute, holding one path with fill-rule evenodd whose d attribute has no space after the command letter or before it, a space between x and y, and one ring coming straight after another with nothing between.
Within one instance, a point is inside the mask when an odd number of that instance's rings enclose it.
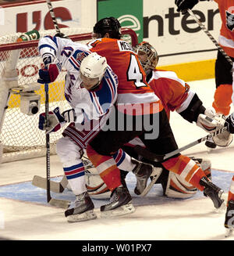
<instances>
[{"instance_id":1,"label":"hockey goal with red frame and white netting at left","mask_svg":"<svg viewBox=\"0 0 234 256\"><path fill-rule=\"evenodd\" d=\"M61 32L73 41L87 43L91 33L87 29L62 28ZM55 35L55 30L39 31L40 36ZM20 92L28 85L37 84L38 70L43 66L37 50L38 40L16 42L22 33L0 37L0 153L1 161L42 157L46 153L45 134L38 128L38 117L44 112L44 85L35 91L41 96L41 106L37 114L27 115L20 111ZM128 28L122 28L122 39L135 46L137 34ZM64 97L64 79L66 70L49 85L50 110L59 106L61 112L70 108ZM63 128L64 129L64 128ZM55 153L56 141L62 131L51 132L51 153Z\"/></svg>"}]
</instances>

